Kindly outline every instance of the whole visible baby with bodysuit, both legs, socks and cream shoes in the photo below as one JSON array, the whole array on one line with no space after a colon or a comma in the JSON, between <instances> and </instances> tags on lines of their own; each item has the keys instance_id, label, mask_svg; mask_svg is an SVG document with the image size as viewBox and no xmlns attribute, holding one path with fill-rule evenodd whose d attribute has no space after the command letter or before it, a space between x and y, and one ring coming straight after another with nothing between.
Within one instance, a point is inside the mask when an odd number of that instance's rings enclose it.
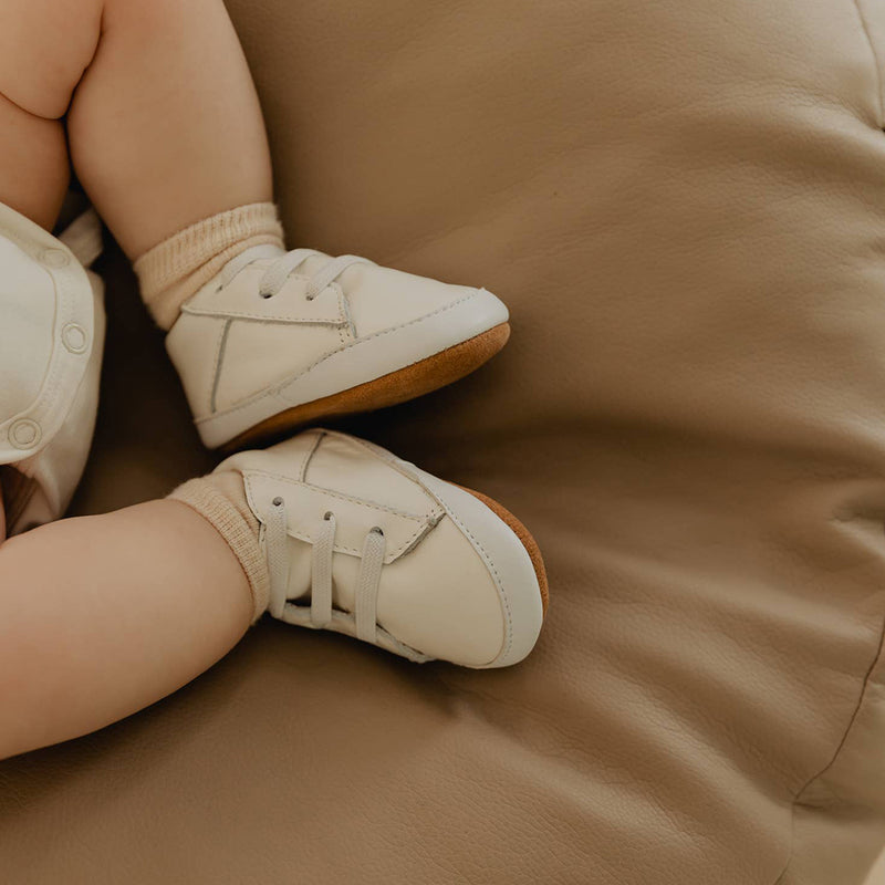
<instances>
[{"instance_id":1,"label":"whole visible baby with bodysuit, both legs, socks and cream shoes","mask_svg":"<svg viewBox=\"0 0 885 885\"><path fill-rule=\"evenodd\" d=\"M49 232L71 164L134 261L202 441L230 457L165 500L59 520L104 334L95 218ZM271 199L221 0L2 4L0 758L154 702L264 612L468 667L537 641L544 569L512 514L369 442L291 435L467 375L503 347L507 309L287 252Z\"/></svg>"}]
</instances>

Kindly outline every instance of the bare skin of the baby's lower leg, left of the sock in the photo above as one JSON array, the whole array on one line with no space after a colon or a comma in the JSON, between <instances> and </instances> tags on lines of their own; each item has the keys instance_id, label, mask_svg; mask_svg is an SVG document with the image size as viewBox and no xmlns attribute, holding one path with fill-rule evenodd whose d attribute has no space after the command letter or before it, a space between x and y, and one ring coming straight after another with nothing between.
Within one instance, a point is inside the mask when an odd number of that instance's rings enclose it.
<instances>
[{"instance_id":1,"label":"bare skin of the baby's lower leg, left of the sock","mask_svg":"<svg viewBox=\"0 0 885 885\"><path fill-rule=\"evenodd\" d=\"M178 501L0 544L0 758L74 738L210 667L253 617L221 535Z\"/></svg>"}]
</instances>

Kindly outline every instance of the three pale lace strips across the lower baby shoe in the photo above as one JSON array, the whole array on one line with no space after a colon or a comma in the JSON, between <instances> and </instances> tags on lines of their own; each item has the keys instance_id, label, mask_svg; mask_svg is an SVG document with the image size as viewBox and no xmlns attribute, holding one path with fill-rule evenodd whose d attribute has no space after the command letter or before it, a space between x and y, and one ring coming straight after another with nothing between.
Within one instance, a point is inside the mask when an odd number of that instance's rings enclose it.
<instances>
[{"instance_id":1,"label":"three pale lace strips across the lower baby shoe","mask_svg":"<svg viewBox=\"0 0 885 885\"><path fill-rule=\"evenodd\" d=\"M326 627L332 621L332 556L335 550L335 516L329 512L311 551L311 625ZM289 551L285 502L274 498L264 529L270 571L270 613L280 617L287 605ZM366 535L354 594L353 618L356 635L374 643L377 635L378 585L387 544L384 532L375 527Z\"/></svg>"}]
</instances>

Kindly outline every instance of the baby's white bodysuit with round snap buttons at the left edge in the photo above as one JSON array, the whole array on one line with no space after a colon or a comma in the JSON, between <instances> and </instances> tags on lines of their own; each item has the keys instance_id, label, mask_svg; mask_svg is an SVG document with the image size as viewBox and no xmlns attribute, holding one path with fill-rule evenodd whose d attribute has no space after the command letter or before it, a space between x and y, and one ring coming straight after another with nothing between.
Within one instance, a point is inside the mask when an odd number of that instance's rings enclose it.
<instances>
[{"instance_id":1,"label":"baby's white bodysuit with round snap buttons at the left edge","mask_svg":"<svg viewBox=\"0 0 885 885\"><path fill-rule=\"evenodd\" d=\"M0 204L0 478L7 532L62 516L86 464L104 345L101 225L56 239Z\"/></svg>"}]
</instances>

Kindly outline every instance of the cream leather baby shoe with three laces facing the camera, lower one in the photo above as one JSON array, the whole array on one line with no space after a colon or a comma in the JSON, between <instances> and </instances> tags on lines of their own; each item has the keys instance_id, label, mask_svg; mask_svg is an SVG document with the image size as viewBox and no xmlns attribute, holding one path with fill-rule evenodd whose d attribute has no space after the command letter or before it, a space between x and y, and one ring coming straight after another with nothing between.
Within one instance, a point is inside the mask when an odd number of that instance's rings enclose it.
<instances>
[{"instance_id":1,"label":"cream leather baby shoe with three laces facing the camera, lower one","mask_svg":"<svg viewBox=\"0 0 885 885\"><path fill-rule=\"evenodd\" d=\"M260 522L274 617L466 667L506 667L534 646L543 561L497 502L329 430L222 470L242 473Z\"/></svg>"}]
</instances>

